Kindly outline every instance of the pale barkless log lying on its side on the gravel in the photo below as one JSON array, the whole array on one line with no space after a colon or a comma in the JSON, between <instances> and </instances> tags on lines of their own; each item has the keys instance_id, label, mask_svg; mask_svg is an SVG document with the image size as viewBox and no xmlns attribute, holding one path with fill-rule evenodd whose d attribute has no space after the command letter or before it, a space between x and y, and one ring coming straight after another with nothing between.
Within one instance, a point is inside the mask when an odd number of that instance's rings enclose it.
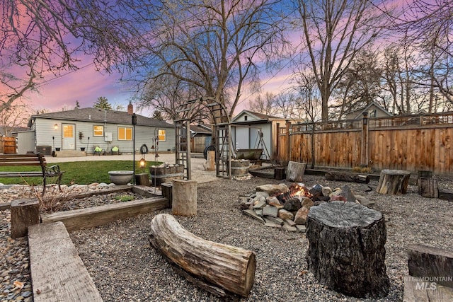
<instances>
[{"instance_id":1,"label":"pale barkless log lying on its side on the gravel","mask_svg":"<svg viewBox=\"0 0 453 302\"><path fill-rule=\"evenodd\" d=\"M233 294L248 296L255 280L255 253L202 239L169 214L151 221L151 244L186 272Z\"/></svg>"}]
</instances>

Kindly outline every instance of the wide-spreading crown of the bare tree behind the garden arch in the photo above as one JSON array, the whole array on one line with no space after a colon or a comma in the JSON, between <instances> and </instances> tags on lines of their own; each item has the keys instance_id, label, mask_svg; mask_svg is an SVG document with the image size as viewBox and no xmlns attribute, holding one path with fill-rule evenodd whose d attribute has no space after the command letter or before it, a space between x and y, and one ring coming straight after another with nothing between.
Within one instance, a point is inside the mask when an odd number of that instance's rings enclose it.
<instances>
[{"instance_id":1,"label":"wide-spreading crown of the bare tree behind the garden arch","mask_svg":"<svg viewBox=\"0 0 453 302\"><path fill-rule=\"evenodd\" d=\"M150 19L159 30L145 47L147 86L171 76L229 105L231 117L245 84L258 80L258 64L285 50L281 2L170 0L153 7Z\"/></svg>"}]
</instances>

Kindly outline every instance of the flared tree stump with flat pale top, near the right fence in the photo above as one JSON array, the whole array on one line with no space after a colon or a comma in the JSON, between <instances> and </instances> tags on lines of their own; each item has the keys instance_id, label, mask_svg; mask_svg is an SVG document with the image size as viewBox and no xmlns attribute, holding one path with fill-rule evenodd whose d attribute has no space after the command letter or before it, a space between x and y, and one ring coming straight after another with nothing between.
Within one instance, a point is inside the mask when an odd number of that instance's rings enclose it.
<instances>
[{"instance_id":1,"label":"flared tree stump with flat pale top, near the right fence","mask_svg":"<svg viewBox=\"0 0 453 302\"><path fill-rule=\"evenodd\" d=\"M411 172L405 170L381 170L376 192L380 194L406 194Z\"/></svg>"}]
</instances>

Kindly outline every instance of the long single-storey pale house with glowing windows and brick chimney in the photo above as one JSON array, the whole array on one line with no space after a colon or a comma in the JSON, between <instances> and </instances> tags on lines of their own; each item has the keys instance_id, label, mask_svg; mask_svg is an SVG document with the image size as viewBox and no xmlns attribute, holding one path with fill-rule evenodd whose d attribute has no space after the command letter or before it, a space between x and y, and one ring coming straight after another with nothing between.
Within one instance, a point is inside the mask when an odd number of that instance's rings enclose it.
<instances>
[{"instance_id":1,"label":"long single-storey pale house with glowing windows and brick chimney","mask_svg":"<svg viewBox=\"0 0 453 302\"><path fill-rule=\"evenodd\" d=\"M18 153L52 151L86 151L94 153L96 146L110 152L117 146L120 153L138 153L142 146L151 151L174 151L173 124L136 115L132 124L133 106L127 112L98 108L79 108L60 112L32 115L29 130L18 132ZM159 144L156 144L159 141Z\"/></svg>"}]
</instances>

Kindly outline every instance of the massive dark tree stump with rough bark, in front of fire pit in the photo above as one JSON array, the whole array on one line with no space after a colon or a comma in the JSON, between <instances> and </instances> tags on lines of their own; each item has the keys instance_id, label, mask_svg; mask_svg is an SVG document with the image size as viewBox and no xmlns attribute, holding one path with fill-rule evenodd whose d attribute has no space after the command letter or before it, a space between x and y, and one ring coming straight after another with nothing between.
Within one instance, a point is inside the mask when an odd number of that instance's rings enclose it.
<instances>
[{"instance_id":1,"label":"massive dark tree stump with rough bark, in front of fire pit","mask_svg":"<svg viewBox=\"0 0 453 302\"><path fill-rule=\"evenodd\" d=\"M355 297L388 293L381 212L353 202L325 202L311 207L306 238L309 270L322 284Z\"/></svg>"}]
</instances>

